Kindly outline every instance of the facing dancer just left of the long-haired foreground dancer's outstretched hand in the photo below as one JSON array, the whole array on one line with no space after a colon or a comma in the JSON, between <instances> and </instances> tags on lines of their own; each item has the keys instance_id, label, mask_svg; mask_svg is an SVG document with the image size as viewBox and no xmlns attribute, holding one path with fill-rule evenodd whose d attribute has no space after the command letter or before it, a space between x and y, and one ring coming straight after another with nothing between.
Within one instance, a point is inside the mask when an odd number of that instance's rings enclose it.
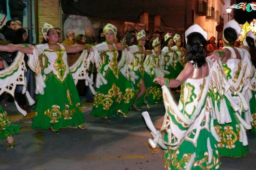
<instances>
[{"instance_id":1,"label":"facing dancer just left of the long-haired foreground dancer's outstretched hand","mask_svg":"<svg viewBox=\"0 0 256 170\"><path fill-rule=\"evenodd\" d=\"M152 46L154 48L152 49L152 53L147 55L144 61L144 80L146 85L146 94L144 99L149 105L163 101L161 87L157 83L153 82L153 79L170 73L162 69L163 63L161 63L160 59L161 44L158 38L153 40Z\"/></svg>"}]
</instances>

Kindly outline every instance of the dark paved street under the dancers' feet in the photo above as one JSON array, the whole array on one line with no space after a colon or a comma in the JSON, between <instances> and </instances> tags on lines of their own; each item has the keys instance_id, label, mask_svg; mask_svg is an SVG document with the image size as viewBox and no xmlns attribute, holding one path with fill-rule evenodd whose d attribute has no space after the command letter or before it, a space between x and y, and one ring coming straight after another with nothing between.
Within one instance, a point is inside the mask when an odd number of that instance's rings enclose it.
<instances>
[{"instance_id":1,"label":"dark paved street under the dancers' feet","mask_svg":"<svg viewBox=\"0 0 256 170\"><path fill-rule=\"evenodd\" d=\"M8 104L8 103L7 103ZM4 106L6 107L6 106ZM141 111L130 118L103 121L85 112L86 129L66 128L60 134L31 129L32 119L22 119L21 133L14 135L15 148L0 142L1 170L163 170L163 152L148 144L150 131ZM163 104L144 108L157 128L164 115ZM255 137L248 134L250 152L245 158L220 158L222 170L250 170L255 167Z\"/></svg>"}]
</instances>

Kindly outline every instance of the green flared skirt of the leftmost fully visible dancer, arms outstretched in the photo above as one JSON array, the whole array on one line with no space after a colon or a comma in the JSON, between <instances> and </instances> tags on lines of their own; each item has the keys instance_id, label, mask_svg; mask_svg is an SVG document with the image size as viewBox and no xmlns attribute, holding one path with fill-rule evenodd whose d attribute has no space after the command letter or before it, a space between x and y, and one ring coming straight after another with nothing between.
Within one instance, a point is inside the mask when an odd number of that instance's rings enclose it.
<instances>
[{"instance_id":1,"label":"green flared skirt of the leftmost fully visible dancer, arms outstretched","mask_svg":"<svg viewBox=\"0 0 256 170\"><path fill-rule=\"evenodd\" d=\"M59 130L84 123L84 113L71 73L61 82L53 73L46 75L44 94L38 94L32 128Z\"/></svg>"}]
</instances>

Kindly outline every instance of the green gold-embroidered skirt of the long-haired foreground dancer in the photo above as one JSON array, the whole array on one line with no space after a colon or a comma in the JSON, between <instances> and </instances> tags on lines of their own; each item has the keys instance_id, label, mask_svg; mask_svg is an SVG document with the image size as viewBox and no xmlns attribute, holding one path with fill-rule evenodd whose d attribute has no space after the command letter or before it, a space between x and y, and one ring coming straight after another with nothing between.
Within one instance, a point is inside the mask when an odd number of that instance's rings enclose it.
<instances>
[{"instance_id":1,"label":"green gold-embroidered skirt of the long-haired foreground dancer","mask_svg":"<svg viewBox=\"0 0 256 170\"><path fill-rule=\"evenodd\" d=\"M213 149L213 157L208 163L207 138L210 139L210 146ZM167 141L167 135L165 136ZM216 149L217 142L213 135L206 129L200 131L197 138L197 145L183 140L176 150L164 149L163 157L166 170L185 170L191 156L195 152L195 158L191 170L217 170L220 166L219 155Z\"/></svg>"}]
</instances>

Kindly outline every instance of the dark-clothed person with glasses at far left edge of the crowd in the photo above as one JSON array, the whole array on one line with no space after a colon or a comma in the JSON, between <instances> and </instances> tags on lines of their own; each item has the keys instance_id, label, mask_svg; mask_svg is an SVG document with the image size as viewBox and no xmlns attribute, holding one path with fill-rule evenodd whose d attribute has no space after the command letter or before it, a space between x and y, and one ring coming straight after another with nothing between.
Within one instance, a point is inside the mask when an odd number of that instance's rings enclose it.
<instances>
[{"instance_id":1,"label":"dark-clothed person with glasses at far left edge of the crowd","mask_svg":"<svg viewBox=\"0 0 256 170\"><path fill-rule=\"evenodd\" d=\"M12 20L7 21L6 24L2 27L1 33L3 33L6 41L9 41L12 43L12 40L15 35L15 29L16 29L16 24Z\"/></svg>"}]
</instances>

